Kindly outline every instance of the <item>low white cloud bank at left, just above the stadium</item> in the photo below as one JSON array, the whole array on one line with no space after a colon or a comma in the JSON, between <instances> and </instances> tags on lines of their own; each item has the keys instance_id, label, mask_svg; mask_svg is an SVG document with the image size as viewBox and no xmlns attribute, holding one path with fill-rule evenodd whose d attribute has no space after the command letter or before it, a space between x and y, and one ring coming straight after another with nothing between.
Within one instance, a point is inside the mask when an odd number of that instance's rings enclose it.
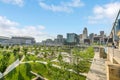
<instances>
[{"instance_id":1,"label":"low white cloud bank at left, just above the stadium","mask_svg":"<svg viewBox=\"0 0 120 80\"><path fill-rule=\"evenodd\" d=\"M45 27L42 25L25 27L19 26L20 25L17 22L0 16L0 36L31 36L34 37L37 42L50 38L48 34L44 32Z\"/></svg>"}]
</instances>

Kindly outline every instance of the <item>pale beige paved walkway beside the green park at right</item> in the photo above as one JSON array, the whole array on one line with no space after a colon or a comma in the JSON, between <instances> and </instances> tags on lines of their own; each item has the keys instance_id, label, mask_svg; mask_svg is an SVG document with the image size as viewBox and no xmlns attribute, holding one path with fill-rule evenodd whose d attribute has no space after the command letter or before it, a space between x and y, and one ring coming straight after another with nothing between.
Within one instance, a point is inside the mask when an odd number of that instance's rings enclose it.
<instances>
[{"instance_id":1,"label":"pale beige paved walkway beside the green park at right","mask_svg":"<svg viewBox=\"0 0 120 80\"><path fill-rule=\"evenodd\" d=\"M95 52L86 80L106 80L105 60L99 58L98 52Z\"/></svg>"}]
</instances>

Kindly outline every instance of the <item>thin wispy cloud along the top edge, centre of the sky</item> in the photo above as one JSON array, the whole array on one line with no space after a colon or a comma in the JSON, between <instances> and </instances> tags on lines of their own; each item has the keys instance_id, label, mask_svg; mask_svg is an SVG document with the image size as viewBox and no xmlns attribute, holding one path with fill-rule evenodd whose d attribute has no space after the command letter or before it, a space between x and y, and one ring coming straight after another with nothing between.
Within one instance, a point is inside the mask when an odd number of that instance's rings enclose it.
<instances>
[{"instance_id":1,"label":"thin wispy cloud along the top edge, centre of the sky","mask_svg":"<svg viewBox=\"0 0 120 80\"><path fill-rule=\"evenodd\" d=\"M72 12L73 8L81 7L84 4L80 0L72 0L71 2L61 2L59 5L48 5L41 1L39 3L40 7L46 10L51 10L53 12Z\"/></svg>"}]
</instances>

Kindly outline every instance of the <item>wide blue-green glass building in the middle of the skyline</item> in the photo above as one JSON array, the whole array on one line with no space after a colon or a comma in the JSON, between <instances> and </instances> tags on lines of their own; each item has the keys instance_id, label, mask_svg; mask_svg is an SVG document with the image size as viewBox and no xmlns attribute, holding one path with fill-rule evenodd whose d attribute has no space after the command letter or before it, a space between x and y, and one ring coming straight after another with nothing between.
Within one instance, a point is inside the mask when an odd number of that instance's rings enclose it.
<instances>
[{"instance_id":1,"label":"wide blue-green glass building in the middle of the skyline","mask_svg":"<svg viewBox=\"0 0 120 80\"><path fill-rule=\"evenodd\" d=\"M75 33L67 33L67 43L69 44L79 43L78 35Z\"/></svg>"}]
</instances>

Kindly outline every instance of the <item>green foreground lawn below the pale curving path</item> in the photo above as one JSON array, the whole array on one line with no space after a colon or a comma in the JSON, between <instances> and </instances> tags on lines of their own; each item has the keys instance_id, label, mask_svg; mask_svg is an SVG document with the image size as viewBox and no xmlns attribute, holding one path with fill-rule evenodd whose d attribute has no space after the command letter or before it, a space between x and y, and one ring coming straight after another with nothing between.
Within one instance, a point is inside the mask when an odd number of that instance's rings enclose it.
<instances>
[{"instance_id":1,"label":"green foreground lawn below the pale curving path","mask_svg":"<svg viewBox=\"0 0 120 80\"><path fill-rule=\"evenodd\" d=\"M48 80L85 80L86 77L77 75L72 72L60 70L55 67L48 67L40 63L20 64L17 68L11 71L4 77L5 80L31 80L35 76L30 73L33 71Z\"/></svg>"}]
</instances>

